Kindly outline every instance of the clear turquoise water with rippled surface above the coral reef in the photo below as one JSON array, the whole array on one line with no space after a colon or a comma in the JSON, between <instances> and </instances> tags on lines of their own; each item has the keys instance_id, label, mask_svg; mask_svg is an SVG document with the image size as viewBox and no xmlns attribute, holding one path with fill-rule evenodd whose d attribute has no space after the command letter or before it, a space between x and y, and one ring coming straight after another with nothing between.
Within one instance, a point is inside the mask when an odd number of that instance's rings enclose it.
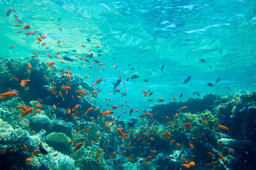
<instances>
[{"instance_id":1,"label":"clear turquoise water with rippled surface above the coral reef","mask_svg":"<svg viewBox=\"0 0 256 170\"><path fill-rule=\"evenodd\" d=\"M103 55L93 59L106 63L104 73L102 68L96 72L98 65L92 61L84 62L86 67L81 66L81 61L69 63L71 71L90 75L85 79L90 84L98 78L108 78L95 86L103 89L98 101L102 100L104 108L109 103L104 98L110 98L113 105L128 100L130 108L141 113L157 103L157 99L168 102L181 93L184 94L181 99L188 99L195 97L194 91L202 97L208 93L222 96L255 88L255 6L255 0L0 0L0 55L26 58L32 56L32 51L41 50L39 57L45 62L55 61L58 69L67 69L67 65L57 58L49 59L45 52L53 55L61 51L60 56L75 58L76 54L84 57L82 54L91 48L97 56L95 46L99 45ZM21 27L13 26L17 23L14 12L5 17L8 8L15 8L23 24L30 24L30 30L36 30L36 34L16 34ZM59 26L63 28L61 31ZM49 49L37 44L35 37L39 32L48 35L44 42ZM57 40L61 40L62 47L56 45ZM11 45L15 48L10 49ZM119 65L115 70L114 64ZM93 68L87 69L90 65ZM119 75L126 80L133 74L140 78L119 86L122 92L128 89L127 97L119 93L107 96L113 94L112 82ZM190 82L183 85L190 75ZM215 85L217 78L221 81ZM214 87L207 86L208 82ZM143 97L140 91L148 89L154 94Z\"/></svg>"}]
</instances>

